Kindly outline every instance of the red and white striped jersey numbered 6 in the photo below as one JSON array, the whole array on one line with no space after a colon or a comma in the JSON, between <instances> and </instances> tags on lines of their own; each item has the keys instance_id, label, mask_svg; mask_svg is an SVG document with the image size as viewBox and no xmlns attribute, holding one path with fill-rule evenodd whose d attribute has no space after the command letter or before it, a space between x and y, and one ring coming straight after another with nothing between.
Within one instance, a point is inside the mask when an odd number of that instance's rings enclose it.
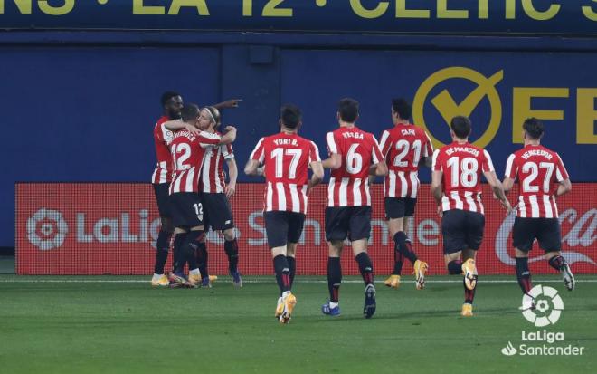
<instances>
[{"instance_id":1,"label":"red and white striped jersey numbered 6","mask_svg":"<svg viewBox=\"0 0 597 374\"><path fill-rule=\"evenodd\" d=\"M327 185L327 206L371 206L369 167L384 160L375 137L357 127L328 132L327 151L342 158Z\"/></svg>"}]
</instances>

